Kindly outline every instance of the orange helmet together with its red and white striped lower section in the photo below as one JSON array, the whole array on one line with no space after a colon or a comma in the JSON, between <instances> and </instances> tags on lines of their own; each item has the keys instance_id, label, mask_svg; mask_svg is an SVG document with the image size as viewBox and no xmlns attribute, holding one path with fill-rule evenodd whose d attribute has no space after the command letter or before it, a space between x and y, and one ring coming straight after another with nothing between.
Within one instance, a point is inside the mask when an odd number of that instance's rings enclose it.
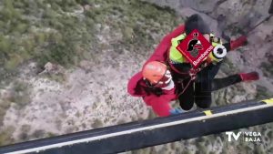
<instances>
[{"instance_id":1,"label":"orange helmet together with its red and white striped lower section","mask_svg":"<svg viewBox=\"0 0 273 154\"><path fill-rule=\"evenodd\" d=\"M155 87L167 87L172 80L167 66L158 61L148 62L142 69L142 75L151 86Z\"/></svg>"}]
</instances>

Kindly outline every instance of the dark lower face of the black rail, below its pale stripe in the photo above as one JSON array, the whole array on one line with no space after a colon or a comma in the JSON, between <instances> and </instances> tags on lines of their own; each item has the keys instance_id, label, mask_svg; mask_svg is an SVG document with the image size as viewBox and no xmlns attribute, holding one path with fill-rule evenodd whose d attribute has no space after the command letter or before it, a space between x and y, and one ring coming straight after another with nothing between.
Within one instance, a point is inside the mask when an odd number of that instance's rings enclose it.
<instances>
[{"instance_id":1,"label":"dark lower face of the black rail, below its pale stripe","mask_svg":"<svg viewBox=\"0 0 273 154\"><path fill-rule=\"evenodd\" d=\"M246 128L270 122L273 120L273 107L258 109L248 113L238 113L218 118L208 118L206 121L189 122L167 128L157 128L150 131L137 132L132 135L115 137L115 139L102 139L92 144L78 144L63 149L49 149L45 154L81 154L90 153L116 153L132 149L146 148L158 144L192 139L209 134L237 128ZM118 149L116 149L118 147Z\"/></svg>"}]
</instances>

